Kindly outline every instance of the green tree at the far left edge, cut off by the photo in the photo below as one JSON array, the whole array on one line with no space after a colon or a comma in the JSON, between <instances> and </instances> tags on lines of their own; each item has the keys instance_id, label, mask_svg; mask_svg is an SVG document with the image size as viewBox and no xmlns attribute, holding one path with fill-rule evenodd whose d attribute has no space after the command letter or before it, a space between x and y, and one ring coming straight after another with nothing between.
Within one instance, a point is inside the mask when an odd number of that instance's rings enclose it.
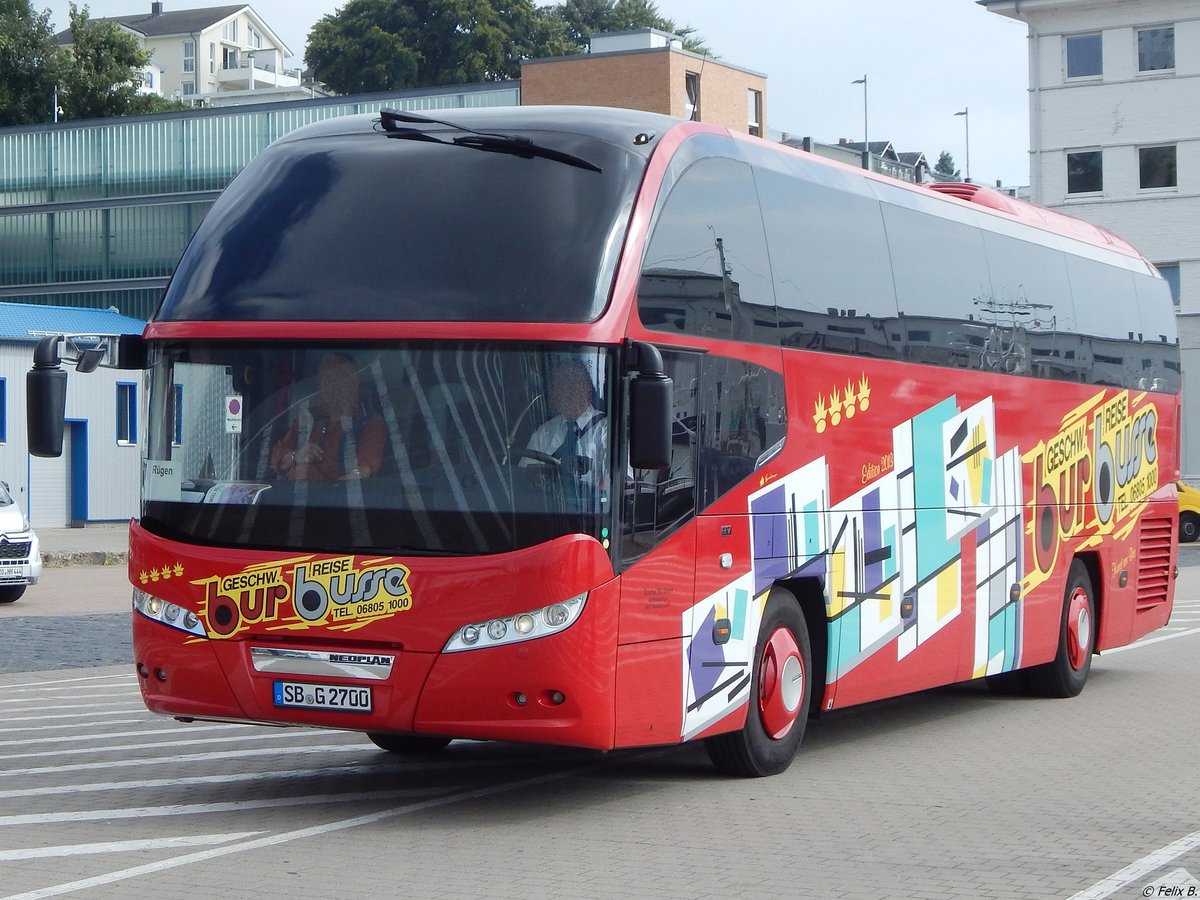
<instances>
[{"instance_id":1,"label":"green tree at the far left edge, cut off by the photo","mask_svg":"<svg viewBox=\"0 0 1200 900\"><path fill-rule=\"evenodd\" d=\"M0 126L52 121L65 61L49 10L0 0Z\"/></svg>"}]
</instances>

